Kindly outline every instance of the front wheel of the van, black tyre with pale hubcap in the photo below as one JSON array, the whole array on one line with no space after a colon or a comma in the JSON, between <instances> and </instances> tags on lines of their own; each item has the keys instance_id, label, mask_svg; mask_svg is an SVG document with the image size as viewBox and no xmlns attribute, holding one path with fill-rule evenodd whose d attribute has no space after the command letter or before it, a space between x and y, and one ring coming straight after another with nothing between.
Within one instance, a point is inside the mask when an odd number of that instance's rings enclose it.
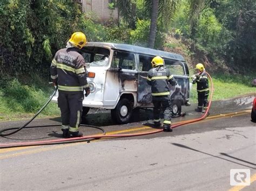
<instances>
[{"instance_id":1,"label":"front wheel of the van, black tyre with pale hubcap","mask_svg":"<svg viewBox=\"0 0 256 191\"><path fill-rule=\"evenodd\" d=\"M116 108L111 110L112 120L118 124L125 124L130 121L132 116L132 104L126 98L120 100Z\"/></svg>"}]
</instances>

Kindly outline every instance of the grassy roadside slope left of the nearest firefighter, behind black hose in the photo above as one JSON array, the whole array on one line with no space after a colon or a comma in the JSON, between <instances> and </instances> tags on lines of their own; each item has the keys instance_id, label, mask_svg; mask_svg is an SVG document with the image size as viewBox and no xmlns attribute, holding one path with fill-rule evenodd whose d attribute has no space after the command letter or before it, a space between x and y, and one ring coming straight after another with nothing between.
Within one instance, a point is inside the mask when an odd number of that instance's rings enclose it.
<instances>
[{"instance_id":1,"label":"grassy roadside slope left of the nearest firefighter, behind black hose","mask_svg":"<svg viewBox=\"0 0 256 191\"><path fill-rule=\"evenodd\" d=\"M0 121L14 121L34 116L53 93L53 87L42 79L21 84L17 79L5 81L0 87ZM41 83L40 83L41 82ZM59 116L56 103L49 103L38 115L39 118Z\"/></svg>"}]
</instances>

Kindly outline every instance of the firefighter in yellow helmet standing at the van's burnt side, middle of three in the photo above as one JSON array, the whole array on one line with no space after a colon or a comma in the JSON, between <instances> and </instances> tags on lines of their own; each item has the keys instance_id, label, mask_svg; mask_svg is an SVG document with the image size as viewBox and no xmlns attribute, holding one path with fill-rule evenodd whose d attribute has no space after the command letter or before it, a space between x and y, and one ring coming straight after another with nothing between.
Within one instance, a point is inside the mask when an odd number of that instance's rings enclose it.
<instances>
[{"instance_id":1,"label":"firefighter in yellow helmet standing at the van's burnt side, middle of three","mask_svg":"<svg viewBox=\"0 0 256 191\"><path fill-rule=\"evenodd\" d=\"M171 132L171 115L172 105L170 100L170 89L168 83L176 86L177 82L170 70L164 67L164 60L160 56L156 56L151 61L152 67L147 74L147 84L151 86L154 126L161 126L160 109L161 105L164 110L164 131Z\"/></svg>"}]
</instances>

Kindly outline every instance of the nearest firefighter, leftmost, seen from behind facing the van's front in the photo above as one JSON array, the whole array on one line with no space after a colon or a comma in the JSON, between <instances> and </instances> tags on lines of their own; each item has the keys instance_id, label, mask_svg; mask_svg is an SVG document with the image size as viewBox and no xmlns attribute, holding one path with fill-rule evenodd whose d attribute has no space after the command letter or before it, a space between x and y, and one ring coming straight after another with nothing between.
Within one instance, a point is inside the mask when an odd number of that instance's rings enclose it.
<instances>
[{"instance_id":1,"label":"nearest firefighter, leftmost, seen from behind facing the van's front","mask_svg":"<svg viewBox=\"0 0 256 191\"><path fill-rule=\"evenodd\" d=\"M56 52L50 67L53 84L58 87L58 107L62 117L63 137L82 137L79 126L82 121L82 109L85 96L90 94L87 83L85 60L79 49L87 43L82 32L75 32L66 44L66 48Z\"/></svg>"}]
</instances>

